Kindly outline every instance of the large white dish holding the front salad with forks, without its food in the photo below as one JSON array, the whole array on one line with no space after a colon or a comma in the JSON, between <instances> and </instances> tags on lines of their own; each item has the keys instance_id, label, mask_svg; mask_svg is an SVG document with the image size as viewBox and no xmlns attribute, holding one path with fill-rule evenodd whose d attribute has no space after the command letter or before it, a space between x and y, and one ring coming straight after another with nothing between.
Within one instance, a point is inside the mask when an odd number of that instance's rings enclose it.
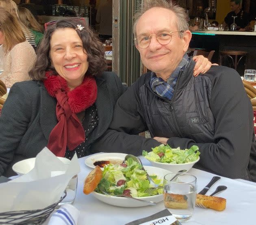
<instances>
[{"instance_id":1,"label":"large white dish holding the front salad with forks, without its food","mask_svg":"<svg viewBox=\"0 0 256 225\"><path fill-rule=\"evenodd\" d=\"M169 170L158 168L158 167L150 167L150 166L144 166L145 170L150 175L157 175L158 178L163 180L163 177L170 173ZM95 198L99 199L100 201L103 201L109 205L113 206L120 206L120 207L141 207L141 206L148 206L147 203L144 203L143 201L136 201L134 199L125 198L125 197L115 197L110 195L102 195L100 193L97 193L93 191L93 195ZM139 197L139 199L146 200L146 201L154 201L156 203L163 201L163 194L161 195L153 195L149 197Z\"/></svg>"}]
</instances>

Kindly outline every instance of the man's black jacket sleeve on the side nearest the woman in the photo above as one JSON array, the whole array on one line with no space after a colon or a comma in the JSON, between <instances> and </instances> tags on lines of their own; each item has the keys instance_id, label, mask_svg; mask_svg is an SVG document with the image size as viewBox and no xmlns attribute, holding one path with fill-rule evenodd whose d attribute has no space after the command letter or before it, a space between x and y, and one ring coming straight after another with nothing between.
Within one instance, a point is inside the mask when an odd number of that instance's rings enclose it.
<instances>
[{"instance_id":1,"label":"man's black jacket sleeve on the side nearest the woman","mask_svg":"<svg viewBox=\"0 0 256 225\"><path fill-rule=\"evenodd\" d=\"M135 82L117 100L110 127L93 144L93 149L141 155L142 150L150 151L152 147L160 145L153 138L137 135L148 130L140 108L139 82Z\"/></svg>"}]
</instances>

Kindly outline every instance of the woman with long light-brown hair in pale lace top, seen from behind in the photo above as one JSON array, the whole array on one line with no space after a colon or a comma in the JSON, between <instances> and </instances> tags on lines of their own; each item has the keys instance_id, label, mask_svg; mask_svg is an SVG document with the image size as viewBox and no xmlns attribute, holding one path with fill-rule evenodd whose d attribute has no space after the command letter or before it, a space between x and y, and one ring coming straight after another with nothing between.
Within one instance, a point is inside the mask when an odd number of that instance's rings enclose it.
<instances>
[{"instance_id":1,"label":"woman with long light-brown hair in pale lace top, seen from behind","mask_svg":"<svg viewBox=\"0 0 256 225\"><path fill-rule=\"evenodd\" d=\"M7 88L15 82L29 80L28 71L35 63L35 51L26 41L20 23L6 9L0 7L0 56L3 72L0 79Z\"/></svg>"}]
</instances>

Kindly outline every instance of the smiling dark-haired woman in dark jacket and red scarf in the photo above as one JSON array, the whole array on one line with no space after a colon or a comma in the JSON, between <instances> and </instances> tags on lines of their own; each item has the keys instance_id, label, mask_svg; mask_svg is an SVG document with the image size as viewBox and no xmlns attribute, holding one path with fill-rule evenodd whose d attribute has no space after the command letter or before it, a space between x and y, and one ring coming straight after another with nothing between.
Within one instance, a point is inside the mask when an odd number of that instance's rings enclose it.
<instances>
[{"instance_id":1,"label":"smiling dark-haired woman in dark jacket and red scarf","mask_svg":"<svg viewBox=\"0 0 256 225\"><path fill-rule=\"evenodd\" d=\"M47 27L29 73L33 80L14 84L2 109L0 175L13 175L15 162L45 146L66 158L95 153L90 148L107 130L125 91L105 68L103 45L82 20Z\"/></svg>"}]
</instances>

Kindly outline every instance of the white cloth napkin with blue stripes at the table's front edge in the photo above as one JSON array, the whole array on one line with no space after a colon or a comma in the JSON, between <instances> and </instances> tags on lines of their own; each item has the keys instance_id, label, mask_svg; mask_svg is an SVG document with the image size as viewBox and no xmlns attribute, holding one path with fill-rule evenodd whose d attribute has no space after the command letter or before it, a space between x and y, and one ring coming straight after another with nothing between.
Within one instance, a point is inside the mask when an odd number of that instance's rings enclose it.
<instances>
[{"instance_id":1,"label":"white cloth napkin with blue stripes at the table's front edge","mask_svg":"<svg viewBox=\"0 0 256 225\"><path fill-rule=\"evenodd\" d=\"M48 225L77 225L80 211L71 204L64 204L52 214Z\"/></svg>"}]
</instances>

